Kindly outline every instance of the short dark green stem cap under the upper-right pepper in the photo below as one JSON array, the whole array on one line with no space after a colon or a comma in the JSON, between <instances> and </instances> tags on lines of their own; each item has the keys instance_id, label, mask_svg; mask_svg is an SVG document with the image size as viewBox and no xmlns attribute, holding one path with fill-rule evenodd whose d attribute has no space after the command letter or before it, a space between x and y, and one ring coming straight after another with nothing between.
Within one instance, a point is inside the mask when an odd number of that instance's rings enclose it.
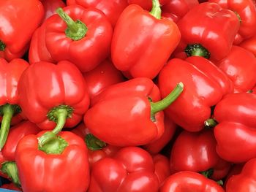
<instances>
[{"instance_id":1,"label":"short dark green stem cap under the upper-right pepper","mask_svg":"<svg viewBox=\"0 0 256 192\"><path fill-rule=\"evenodd\" d=\"M185 49L185 53L188 57L190 56L200 56L204 58L210 58L210 53L200 44L189 44Z\"/></svg>"}]
</instances>

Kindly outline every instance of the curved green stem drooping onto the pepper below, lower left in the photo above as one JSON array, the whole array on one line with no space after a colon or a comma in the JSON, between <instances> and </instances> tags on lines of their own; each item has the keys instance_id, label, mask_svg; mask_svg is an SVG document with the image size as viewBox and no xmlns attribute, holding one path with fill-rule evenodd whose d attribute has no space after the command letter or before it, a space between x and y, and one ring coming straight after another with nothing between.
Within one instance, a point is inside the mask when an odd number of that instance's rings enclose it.
<instances>
[{"instance_id":1,"label":"curved green stem drooping onto the pepper below, lower left","mask_svg":"<svg viewBox=\"0 0 256 192\"><path fill-rule=\"evenodd\" d=\"M58 107L53 107L50 112L48 112L48 119L53 120L57 123L53 131L47 131L41 137L38 138L38 145L42 148L48 142L58 139L57 134L62 130L66 123L67 118L72 117L73 109L67 105L59 105ZM51 142L51 143L52 143Z\"/></svg>"}]
</instances>

